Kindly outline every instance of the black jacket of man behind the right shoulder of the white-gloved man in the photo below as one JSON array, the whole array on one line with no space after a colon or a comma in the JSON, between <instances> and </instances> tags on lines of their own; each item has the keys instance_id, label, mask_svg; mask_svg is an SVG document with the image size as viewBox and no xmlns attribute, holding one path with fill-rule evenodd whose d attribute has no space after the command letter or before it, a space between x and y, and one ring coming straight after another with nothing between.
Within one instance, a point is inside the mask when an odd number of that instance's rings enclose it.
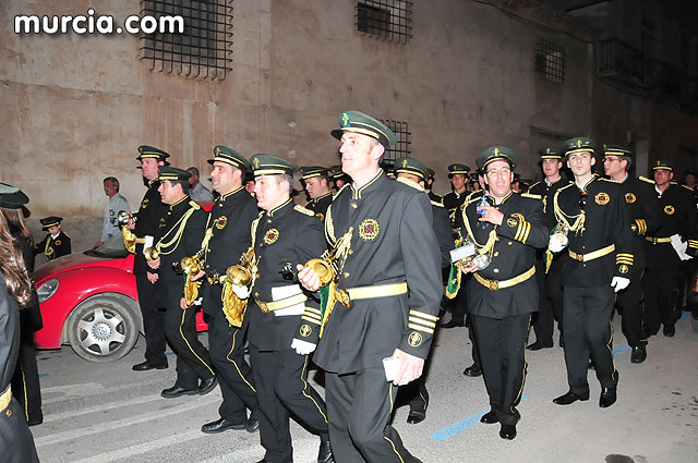
<instances>
[{"instance_id":1,"label":"black jacket of man behind the right shoulder of the white-gloved man","mask_svg":"<svg viewBox=\"0 0 698 463\"><path fill-rule=\"evenodd\" d=\"M630 220L633 233L633 267L643 269L647 267L646 235L652 235L659 226L658 210L652 207L654 194L652 186L635 176L627 175L618 182L621 193Z\"/></svg>"}]
</instances>

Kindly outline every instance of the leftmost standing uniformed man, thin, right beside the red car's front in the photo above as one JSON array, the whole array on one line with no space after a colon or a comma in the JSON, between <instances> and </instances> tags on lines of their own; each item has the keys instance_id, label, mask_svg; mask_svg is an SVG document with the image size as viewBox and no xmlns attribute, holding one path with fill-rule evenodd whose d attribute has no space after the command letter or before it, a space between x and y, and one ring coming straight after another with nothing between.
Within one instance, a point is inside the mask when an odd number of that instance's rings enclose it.
<instances>
[{"instance_id":1,"label":"leftmost standing uniformed man, thin, right beside the red car's front","mask_svg":"<svg viewBox=\"0 0 698 463\"><path fill-rule=\"evenodd\" d=\"M130 224L136 235L135 254L133 259L133 275L139 292L139 304L143 316L143 332L145 334L145 362L133 365L134 371L167 368L165 356L165 292L158 283L158 273L148 269L143 249L153 246L159 237L159 219L165 205L157 192L160 185L157 181L158 167L165 166L169 154L152 146L139 146L141 173L147 191L141 200L136 212L135 228Z\"/></svg>"}]
</instances>

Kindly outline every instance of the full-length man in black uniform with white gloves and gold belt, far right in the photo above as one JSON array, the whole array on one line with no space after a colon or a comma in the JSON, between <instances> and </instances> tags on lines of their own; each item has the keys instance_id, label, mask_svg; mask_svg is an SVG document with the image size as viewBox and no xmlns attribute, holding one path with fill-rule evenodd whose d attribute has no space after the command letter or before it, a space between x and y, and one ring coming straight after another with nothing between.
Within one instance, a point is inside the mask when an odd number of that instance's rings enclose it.
<instances>
[{"instance_id":1,"label":"full-length man in black uniform with white gloves and gold belt, far right","mask_svg":"<svg viewBox=\"0 0 698 463\"><path fill-rule=\"evenodd\" d=\"M555 218L566 230L570 259L565 265L563 325L569 391L553 400L568 405L589 400L589 357L601 382L599 406L615 403L618 373L610 348L614 291L630 284L634 264L633 234L621 185L595 176L591 167L595 142L576 137L563 145L575 183L553 197ZM549 248L563 251L559 234Z\"/></svg>"}]
</instances>

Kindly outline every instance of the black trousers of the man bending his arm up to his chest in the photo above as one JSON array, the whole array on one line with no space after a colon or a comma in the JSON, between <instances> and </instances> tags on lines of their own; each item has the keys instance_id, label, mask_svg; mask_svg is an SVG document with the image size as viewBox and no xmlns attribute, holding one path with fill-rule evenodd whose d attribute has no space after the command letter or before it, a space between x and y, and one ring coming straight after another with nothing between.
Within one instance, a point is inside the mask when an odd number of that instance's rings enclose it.
<instances>
[{"instance_id":1,"label":"black trousers of the man bending his arm up to his chest","mask_svg":"<svg viewBox=\"0 0 698 463\"><path fill-rule=\"evenodd\" d=\"M521 400L526 379L526 340L531 314L506 318L470 317L490 406L500 423L516 425L521 417L516 405Z\"/></svg>"}]
</instances>

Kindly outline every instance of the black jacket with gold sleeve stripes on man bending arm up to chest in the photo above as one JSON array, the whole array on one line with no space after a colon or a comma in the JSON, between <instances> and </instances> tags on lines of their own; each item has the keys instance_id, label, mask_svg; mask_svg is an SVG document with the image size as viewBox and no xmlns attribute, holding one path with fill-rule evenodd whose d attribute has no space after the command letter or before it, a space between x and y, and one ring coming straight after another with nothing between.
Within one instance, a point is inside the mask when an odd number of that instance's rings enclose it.
<instances>
[{"instance_id":1,"label":"black jacket with gold sleeve stripes on man bending arm up to chest","mask_svg":"<svg viewBox=\"0 0 698 463\"><path fill-rule=\"evenodd\" d=\"M510 193L500 205L490 205L504 214L501 226L480 222L477 208L482 194L473 194L462 207L461 220L468 221L464 227L464 236L480 245L488 242L492 230L497 240L492 253L492 263L478 276L494 281L506 281L530 271L535 265L535 248L547 245L549 233L543 224L543 207L540 200ZM515 315L530 314L538 310L539 292L535 276L508 288L493 290L483 285L476 278L467 280L468 312L488 318L504 318Z\"/></svg>"}]
</instances>

